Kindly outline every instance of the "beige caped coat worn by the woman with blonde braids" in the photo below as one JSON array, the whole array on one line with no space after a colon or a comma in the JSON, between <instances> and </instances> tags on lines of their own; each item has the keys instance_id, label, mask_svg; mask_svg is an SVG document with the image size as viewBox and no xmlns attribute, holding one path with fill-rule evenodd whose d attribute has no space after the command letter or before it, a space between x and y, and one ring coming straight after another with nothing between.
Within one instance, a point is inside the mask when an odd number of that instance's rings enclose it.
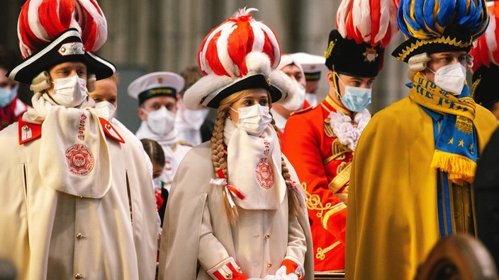
<instances>
[{"instance_id":1,"label":"beige caped coat worn by the woman with blonde braids","mask_svg":"<svg viewBox=\"0 0 499 280\"><path fill-rule=\"evenodd\" d=\"M298 182L291 164L287 165L291 177ZM247 264L267 266L271 262L271 267L267 269L271 274L279 269L286 255L301 260L305 267L305 279L313 279L312 240L306 211L298 217L289 216L285 198L279 209L267 211L270 214L240 210L243 221L231 227L225 214L222 187L209 184L210 178L215 178L212 166L209 142L194 147L179 166L164 216L159 279L209 279L205 270L228 256L235 258L242 271L247 272L246 276L258 277L261 275L255 275L256 269ZM262 216L271 219L271 223L261 221ZM259 231L269 231L268 240L263 242L263 234L253 234ZM245 243L237 239L243 235L259 237ZM269 246L270 250L265 246ZM209 249L203 250L206 247ZM237 251L245 250L245 247L246 250L268 254L238 260L240 252ZM203 259L203 267L196 274L199 259Z\"/></svg>"}]
</instances>

